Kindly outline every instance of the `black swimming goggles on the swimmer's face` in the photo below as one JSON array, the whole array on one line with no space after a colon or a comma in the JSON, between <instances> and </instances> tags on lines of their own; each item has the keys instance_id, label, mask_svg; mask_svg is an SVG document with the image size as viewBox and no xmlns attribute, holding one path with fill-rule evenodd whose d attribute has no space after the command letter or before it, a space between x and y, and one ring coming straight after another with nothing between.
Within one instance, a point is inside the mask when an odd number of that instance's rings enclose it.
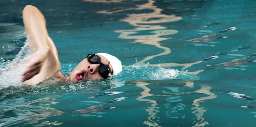
<instances>
[{"instance_id":1,"label":"black swimming goggles on the swimmer's face","mask_svg":"<svg viewBox=\"0 0 256 127\"><path fill-rule=\"evenodd\" d=\"M99 66L99 74L104 79L108 79L108 77L111 75L110 74L110 69L108 68L108 66L104 65L103 63L101 63L101 59L97 55L95 55L95 54L88 54L86 58L88 58L88 61L90 63L92 63L92 64L100 64L100 66Z\"/></svg>"}]
</instances>

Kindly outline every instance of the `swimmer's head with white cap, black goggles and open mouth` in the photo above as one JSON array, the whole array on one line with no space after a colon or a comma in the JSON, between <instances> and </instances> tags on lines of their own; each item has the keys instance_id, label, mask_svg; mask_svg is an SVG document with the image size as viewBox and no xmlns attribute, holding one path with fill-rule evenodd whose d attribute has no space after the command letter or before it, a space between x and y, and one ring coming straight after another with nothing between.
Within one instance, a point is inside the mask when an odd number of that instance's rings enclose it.
<instances>
[{"instance_id":1,"label":"swimmer's head with white cap, black goggles and open mouth","mask_svg":"<svg viewBox=\"0 0 256 127\"><path fill-rule=\"evenodd\" d=\"M88 54L70 73L70 81L112 79L122 71L121 61L108 53Z\"/></svg>"}]
</instances>

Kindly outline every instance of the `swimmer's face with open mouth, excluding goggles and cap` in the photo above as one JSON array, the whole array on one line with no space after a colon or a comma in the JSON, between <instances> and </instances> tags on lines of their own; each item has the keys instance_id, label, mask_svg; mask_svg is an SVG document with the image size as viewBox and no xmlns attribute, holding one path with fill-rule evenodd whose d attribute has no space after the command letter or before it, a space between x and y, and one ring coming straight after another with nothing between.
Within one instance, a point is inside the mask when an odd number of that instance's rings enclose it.
<instances>
[{"instance_id":1,"label":"swimmer's face with open mouth, excluding goggles and cap","mask_svg":"<svg viewBox=\"0 0 256 127\"><path fill-rule=\"evenodd\" d=\"M106 59L101 55L97 55L97 56L101 59L101 63L108 66L110 71L113 72L112 66L110 65L108 59ZM70 73L69 79L70 81L79 81L82 79L92 79L92 80L104 79L99 74L99 66L100 66L99 63L92 64L88 61L88 58L86 58L83 61L81 61L76 66L76 68Z\"/></svg>"}]
</instances>

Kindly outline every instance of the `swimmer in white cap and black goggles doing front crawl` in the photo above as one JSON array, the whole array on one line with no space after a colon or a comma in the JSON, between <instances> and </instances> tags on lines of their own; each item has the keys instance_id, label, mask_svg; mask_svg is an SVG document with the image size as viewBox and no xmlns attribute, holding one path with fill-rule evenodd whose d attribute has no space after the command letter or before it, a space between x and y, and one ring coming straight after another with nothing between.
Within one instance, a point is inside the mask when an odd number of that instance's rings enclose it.
<instances>
[{"instance_id":1,"label":"swimmer in white cap and black goggles doing front crawl","mask_svg":"<svg viewBox=\"0 0 256 127\"><path fill-rule=\"evenodd\" d=\"M23 72L24 84L36 85L45 79L58 76L60 79L79 81L82 79L112 79L122 71L121 61L108 53L88 54L76 68L64 76L54 42L49 37L44 15L34 6L27 5L22 12L26 37L32 56Z\"/></svg>"}]
</instances>

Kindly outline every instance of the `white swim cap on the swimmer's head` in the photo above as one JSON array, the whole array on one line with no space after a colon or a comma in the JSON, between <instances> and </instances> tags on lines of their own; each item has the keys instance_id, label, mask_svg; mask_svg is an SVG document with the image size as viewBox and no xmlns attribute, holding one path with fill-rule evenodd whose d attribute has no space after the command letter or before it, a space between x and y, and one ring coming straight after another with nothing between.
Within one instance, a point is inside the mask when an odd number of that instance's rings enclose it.
<instances>
[{"instance_id":1,"label":"white swim cap on the swimmer's head","mask_svg":"<svg viewBox=\"0 0 256 127\"><path fill-rule=\"evenodd\" d=\"M123 70L122 63L117 57L110 55L108 53L97 53L96 55L102 55L103 57L108 59L108 61L110 62L111 66L113 68L113 75L117 75L118 73L120 73Z\"/></svg>"}]
</instances>

